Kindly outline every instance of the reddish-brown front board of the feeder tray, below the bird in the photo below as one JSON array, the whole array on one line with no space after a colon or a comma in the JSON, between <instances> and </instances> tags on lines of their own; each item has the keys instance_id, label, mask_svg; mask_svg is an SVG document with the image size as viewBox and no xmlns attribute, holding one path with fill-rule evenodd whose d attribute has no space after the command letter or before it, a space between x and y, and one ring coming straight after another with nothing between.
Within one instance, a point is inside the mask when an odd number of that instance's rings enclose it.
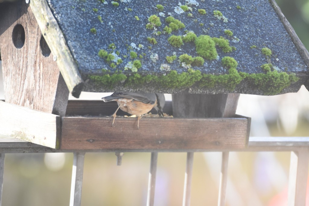
<instances>
[{"instance_id":1,"label":"reddish-brown front board of the feeder tray, below the bird","mask_svg":"<svg viewBox=\"0 0 309 206\"><path fill-rule=\"evenodd\" d=\"M61 149L169 151L247 147L246 118L62 117Z\"/></svg>"}]
</instances>

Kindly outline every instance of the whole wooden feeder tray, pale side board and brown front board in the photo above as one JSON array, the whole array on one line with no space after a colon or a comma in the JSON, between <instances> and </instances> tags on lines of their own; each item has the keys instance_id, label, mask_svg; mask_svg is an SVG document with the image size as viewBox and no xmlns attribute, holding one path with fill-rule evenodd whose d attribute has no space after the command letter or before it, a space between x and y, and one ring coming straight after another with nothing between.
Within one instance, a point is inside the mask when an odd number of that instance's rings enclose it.
<instances>
[{"instance_id":1,"label":"whole wooden feeder tray, pale side board and brown front board","mask_svg":"<svg viewBox=\"0 0 309 206\"><path fill-rule=\"evenodd\" d=\"M0 129L4 135L63 150L187 152L248 146L248 117L145 117L138 129L137 118L117 117L112 127L112 118L102 117L116 108L103 101L69 101L67 116L61 117L0 102L0 113L10 113L0 119ZM167 102L164 112L170 108L171 102Z\"/></svg>"}]
</instances>

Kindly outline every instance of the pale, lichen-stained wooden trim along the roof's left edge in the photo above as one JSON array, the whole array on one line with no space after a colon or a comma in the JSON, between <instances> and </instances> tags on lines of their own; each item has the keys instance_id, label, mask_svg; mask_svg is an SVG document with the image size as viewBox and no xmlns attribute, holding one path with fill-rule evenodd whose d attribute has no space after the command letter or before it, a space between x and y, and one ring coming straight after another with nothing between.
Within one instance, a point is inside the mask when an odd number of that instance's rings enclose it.
<instances>
[{"instance_id":1,"label":"pale, lichen-stained wooden trim along the roof's left edge","mask_svg":"<svg viewBox=\"0 0 309 206\"><path fill-rule=\"evenodd\" d=\"M66 86L70 93L78 98L84 82L56 19L45 0L31 0L30 7L44 39L54 55L54 60L57 62Z\"/></svg>"}]
</instances>

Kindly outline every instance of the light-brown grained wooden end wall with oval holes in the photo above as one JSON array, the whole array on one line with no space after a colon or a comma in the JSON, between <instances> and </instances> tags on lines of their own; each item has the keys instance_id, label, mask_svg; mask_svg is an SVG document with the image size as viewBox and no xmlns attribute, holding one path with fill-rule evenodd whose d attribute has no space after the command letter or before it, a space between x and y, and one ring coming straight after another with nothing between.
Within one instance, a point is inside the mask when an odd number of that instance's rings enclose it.
<instances>
[{"instance_id":1,"label":"light-brown grained wooden end wall with oval holes","mask_svg":"<svg viewBox=\"0 0 309 206\"><path fill-rule=\"evenodd\" d=\"M41 32L25 1L0 8L0 45L6 102L64 116L69 92L63 87L53 55L45 57L40 48ZM2 19L3 18L3 19ZM13 29L20 24L25 32L22 48L12 41Z\"/></svg>"}]
</instances>

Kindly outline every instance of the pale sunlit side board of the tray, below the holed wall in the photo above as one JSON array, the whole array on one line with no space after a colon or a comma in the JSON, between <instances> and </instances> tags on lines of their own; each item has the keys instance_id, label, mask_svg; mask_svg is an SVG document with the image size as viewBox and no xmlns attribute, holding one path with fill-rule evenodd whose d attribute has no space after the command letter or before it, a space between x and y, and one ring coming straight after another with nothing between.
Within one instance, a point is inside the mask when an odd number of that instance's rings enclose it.
<instances>
[{"instance_id":1,"label":"pale sunlit side board of the tray, below the holed wall","mask_svg":"<svg viewBox=\"0 0 309 206\"><path fill-rule=\"evenodd\" d=\"M59 148L60 116L0 101L0 134Z\"/></svg>"}]
</instances>

